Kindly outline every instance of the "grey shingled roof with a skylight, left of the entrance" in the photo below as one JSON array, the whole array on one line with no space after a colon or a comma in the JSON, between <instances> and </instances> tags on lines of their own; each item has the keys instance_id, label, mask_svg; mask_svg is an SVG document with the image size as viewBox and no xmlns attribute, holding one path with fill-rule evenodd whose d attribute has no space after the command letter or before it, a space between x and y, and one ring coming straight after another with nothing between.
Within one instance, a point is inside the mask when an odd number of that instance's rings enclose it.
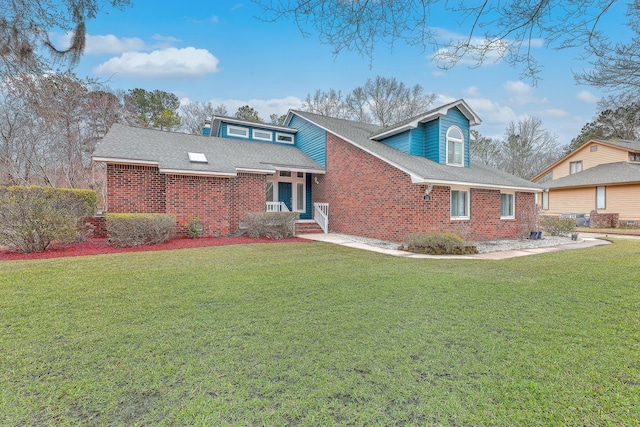
<instances>
[{"instance_id":1,"label":"grey shingled roof with a skylight, left of the entrance","mask_svg":"<svg viewBox=\"0 0 640 427\"><path fill-rule=\"evenodd\" d=\"M191 162L202 153L207 163ZM324 168L291 145L164 132L115 124L98 143L93 160L157 165L161 173L235 176L276 170L324 173Z\"/></svg>"}]
</instances>

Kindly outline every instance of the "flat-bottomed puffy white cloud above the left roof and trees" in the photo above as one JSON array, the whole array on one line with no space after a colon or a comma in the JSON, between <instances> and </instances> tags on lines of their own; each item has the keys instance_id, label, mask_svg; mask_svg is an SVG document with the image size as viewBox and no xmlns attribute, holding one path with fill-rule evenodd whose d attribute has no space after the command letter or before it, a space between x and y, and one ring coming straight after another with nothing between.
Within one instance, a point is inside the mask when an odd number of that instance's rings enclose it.
<instances>
[{"instance_id":1,"label":"flat-bottomed puffy white cloud above the left roof and trees","mask_svg":"<svg viewBox=\"0 0 640 427\"><path fill-rule=\"evenodd\" d=\"M94 68L98 75L137 78L199 78L218 71L218 58L206 49L168 48L150 53L126 52Z\"/></svg>"}]
</instances>

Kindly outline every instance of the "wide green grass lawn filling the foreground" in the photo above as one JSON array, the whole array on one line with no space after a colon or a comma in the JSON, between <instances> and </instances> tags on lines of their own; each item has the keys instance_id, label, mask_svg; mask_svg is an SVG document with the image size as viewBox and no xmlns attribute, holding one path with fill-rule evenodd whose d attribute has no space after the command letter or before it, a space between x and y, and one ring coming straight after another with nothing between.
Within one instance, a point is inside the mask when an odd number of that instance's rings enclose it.
<instances>
[{"instance_id":1,"label":"wide green grass lawn filling the foreground","mask_svg":"<svg viewBox=\"0 0 640 427\"><path fill-rule=\"evenodd\" d=\"M640 241L0 262L0 425L640 425Z\"/></svg>"}]
</instances>

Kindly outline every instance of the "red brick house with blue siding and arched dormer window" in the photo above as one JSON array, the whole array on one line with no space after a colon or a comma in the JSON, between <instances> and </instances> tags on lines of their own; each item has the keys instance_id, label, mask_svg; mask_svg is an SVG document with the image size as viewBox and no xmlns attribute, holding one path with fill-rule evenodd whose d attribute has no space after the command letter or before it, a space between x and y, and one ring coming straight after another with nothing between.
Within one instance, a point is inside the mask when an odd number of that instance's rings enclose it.
<instances>
[{"instance_id":1,"label":"red brick house with blue siding and arched dormer window","mask_svg":"<svg viewBox=\"0 0 640 427\"><path fill-rule=\"evenodd\" d=\"M93 160L107 164L109 211L173 213L179 229L197 216L208 235L265 210L393 241L528 235L540 188L470 164L479 123L459 100L387 128L294 110L284 126L215 117L208 136L114 125Z\"/></svg>"}]
</instances>

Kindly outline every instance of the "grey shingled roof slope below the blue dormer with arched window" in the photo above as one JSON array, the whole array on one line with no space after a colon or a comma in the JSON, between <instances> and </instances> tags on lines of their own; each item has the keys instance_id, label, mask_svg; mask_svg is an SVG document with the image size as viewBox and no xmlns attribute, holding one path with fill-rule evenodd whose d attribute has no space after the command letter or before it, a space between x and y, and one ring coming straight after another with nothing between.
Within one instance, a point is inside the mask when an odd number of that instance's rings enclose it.
<instances>
[{"instance_id":1,"label":"grey shingled roof slope below the blue dormer with arched window","mask_svg":"<svg viewBox=\"0 0 640 427\"><path fill-rule=\"evenodd\" d=\"M397 167L409 174L415 183L460 185L519 191L541 190L538 184L486 166L476 164L472 164L469 168L448 166L436 163L425 157L403 153L382 142L371 139L371 135L381 129L380 126L321 116L306 111L291 111L290 114L296 114L392 166Z\"/></svg>"}]
</instances>

